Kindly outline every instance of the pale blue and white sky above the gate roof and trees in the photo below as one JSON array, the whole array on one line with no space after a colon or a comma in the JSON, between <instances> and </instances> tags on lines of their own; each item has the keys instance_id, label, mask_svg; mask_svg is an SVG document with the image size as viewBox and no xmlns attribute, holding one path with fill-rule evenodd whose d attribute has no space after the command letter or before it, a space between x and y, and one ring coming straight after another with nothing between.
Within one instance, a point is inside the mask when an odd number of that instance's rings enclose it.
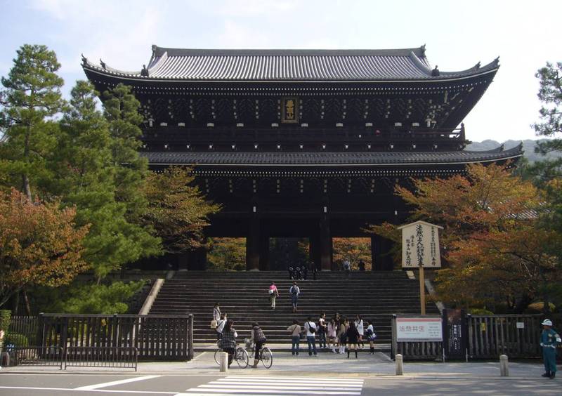
<instances>
[{"instance_id":1,"label":"pale blue and white sky above the gate roof and trees","mask_svg":"<svg viewBox=\"0 0 562 396\"><path fill-rule=\"evenodd\" d=\"M80 54L140 70L150 46L178 48L413 48L431 65L464 70L499 56L488 91L464 120L466 137L535 139L535 72L562 61L558 1L0 0L0 75L22 44L58 55L69 95L85 79Z\"/></svg>"}]
</instances>

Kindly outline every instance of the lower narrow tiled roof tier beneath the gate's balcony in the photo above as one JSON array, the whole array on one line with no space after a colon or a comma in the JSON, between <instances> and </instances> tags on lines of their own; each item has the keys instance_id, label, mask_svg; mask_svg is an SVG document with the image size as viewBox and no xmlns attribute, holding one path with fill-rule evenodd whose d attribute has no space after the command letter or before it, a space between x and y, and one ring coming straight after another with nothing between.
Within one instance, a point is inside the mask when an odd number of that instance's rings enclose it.
<instances>
[{"instance_id":1,"label":"lower narrow tiled roof tier beneath the gate's balcony","mask_svg":"<svg viewBox=\"0 0 562 396\"><path fill-rule=\"evenodd\" d=\"M455 152L143 152L150 164L205 166L396 166L469 164L521 157L510 150Z\"/></svg>"}]
</instances>

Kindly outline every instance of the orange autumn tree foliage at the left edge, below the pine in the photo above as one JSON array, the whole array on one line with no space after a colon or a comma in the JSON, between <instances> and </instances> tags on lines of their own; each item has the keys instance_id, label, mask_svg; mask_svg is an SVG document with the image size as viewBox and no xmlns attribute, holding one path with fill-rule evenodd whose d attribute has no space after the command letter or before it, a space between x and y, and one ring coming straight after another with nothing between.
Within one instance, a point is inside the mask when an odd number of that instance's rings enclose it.
<instances>
[{"instance_id":1,"label":"orange autumn tree foliage at the left edge, below the pine","mask_svg":"<svg viewBox=\"0 0 562 396\"><path fill-rule=\"evenodd\" d=\"M86 270L81 242L89 227L74 226L75 212L0 192L0 306L25 286L69 284Z\"/></svg>"}]
</instances>

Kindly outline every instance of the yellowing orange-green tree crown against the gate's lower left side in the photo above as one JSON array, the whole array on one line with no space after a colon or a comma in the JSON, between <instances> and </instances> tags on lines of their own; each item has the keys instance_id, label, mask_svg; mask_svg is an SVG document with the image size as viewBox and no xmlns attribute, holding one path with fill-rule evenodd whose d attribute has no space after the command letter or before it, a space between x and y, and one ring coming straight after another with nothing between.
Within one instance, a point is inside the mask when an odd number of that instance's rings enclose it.
<instances>
[{"instance_id":1,"label":"yellowing orange-green tree crown against the gate's lower left side","mask_svg":"<svg viewBox=\"0 0 562 396\"><path fill-rule=\"evenodd\" d=\"M182 253L204 244L203 228L220 206L208 202L193 185L190 169L173 166L150 172L144 187L148 199L145 223L162 238L164 249Z\"/></svg>"}]
</instances>

